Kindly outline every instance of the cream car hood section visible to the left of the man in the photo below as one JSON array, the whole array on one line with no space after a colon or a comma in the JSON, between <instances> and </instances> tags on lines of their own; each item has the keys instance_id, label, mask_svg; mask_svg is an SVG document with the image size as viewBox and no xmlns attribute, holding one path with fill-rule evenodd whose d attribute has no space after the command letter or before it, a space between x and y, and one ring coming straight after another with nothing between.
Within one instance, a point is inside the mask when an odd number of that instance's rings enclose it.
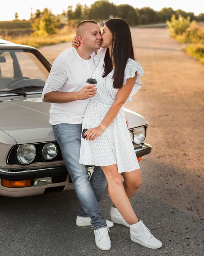
<instances>
[{"instance_id":1,"label":"cream car hood section visible to the left of the man","mask_svg":"<svg viewBox=\"0 0 204 256\"><path fill-rule=\"evenodd\" d=\"M39 98L0 102L0 129L17 144L54 141L49 109Z\"/></svg>"}]
</instances>

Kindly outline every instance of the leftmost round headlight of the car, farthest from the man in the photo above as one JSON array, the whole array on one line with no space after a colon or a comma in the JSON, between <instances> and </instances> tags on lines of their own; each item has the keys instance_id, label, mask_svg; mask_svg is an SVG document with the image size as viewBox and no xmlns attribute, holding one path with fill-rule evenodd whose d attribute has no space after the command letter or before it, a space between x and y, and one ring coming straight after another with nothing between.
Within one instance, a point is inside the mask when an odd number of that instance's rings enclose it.
<instances>
[{"instance_id":1,"label":"leftmost round headlight of the car, farthest from the man","mask_svg":"<svg viewBox=\"0 0 204 256\"><path fill-rule=\"evenodd\" d=\"M20 164L30 164L36 156L36 148L33 144L18 147L16 157Z\"/></svg>"}]
</instances>

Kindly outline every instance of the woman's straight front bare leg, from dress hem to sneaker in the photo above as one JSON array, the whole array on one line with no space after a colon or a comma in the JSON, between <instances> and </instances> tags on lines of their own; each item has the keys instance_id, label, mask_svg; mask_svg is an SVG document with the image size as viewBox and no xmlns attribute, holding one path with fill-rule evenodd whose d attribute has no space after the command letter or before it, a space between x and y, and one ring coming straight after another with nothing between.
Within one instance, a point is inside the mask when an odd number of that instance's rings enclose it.
<instances>
[{"instance_id":1,"label":"woman's straight front bare leg, from dress hem to sneaker","mask_svg":"<svg viewBox=\"0 0 204 256\"><path fill-rule=\"evenodd\" d=\"M135 224L138 222L138 218L125 193L121 173L118 173L117 164L101 166L101 168L107 179L108 193L113 204L128 224Z\"/></svg>"}]
</instances>

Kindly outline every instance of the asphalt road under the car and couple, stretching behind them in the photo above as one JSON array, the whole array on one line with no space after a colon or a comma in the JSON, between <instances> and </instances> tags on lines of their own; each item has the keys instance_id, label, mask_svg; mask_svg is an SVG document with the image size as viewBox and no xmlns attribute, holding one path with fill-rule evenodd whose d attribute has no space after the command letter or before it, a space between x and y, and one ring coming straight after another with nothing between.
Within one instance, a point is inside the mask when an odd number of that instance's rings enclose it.
<instances>
[{"instance_id":1,"label":"asphalt road under the car and couple, stretching behind them","mask_svg":"<svg viewBox=\"0 0 204 256\"><path fill-rule=\"evenodd\" d=\"M163 246L148 249L129 229L110 229L112 247L94 244L93 229L75 225L75 191L27 198L0 197L1 256L202 256L204 255L204 66L183 52L165 29L132 29L143 87L125 107L149 123L152 152L140 162L143 185L131 202ZM70 43L39 49L52 63ZM101 200L110 218L110 198Z\"/></svg>"}]
</instances>

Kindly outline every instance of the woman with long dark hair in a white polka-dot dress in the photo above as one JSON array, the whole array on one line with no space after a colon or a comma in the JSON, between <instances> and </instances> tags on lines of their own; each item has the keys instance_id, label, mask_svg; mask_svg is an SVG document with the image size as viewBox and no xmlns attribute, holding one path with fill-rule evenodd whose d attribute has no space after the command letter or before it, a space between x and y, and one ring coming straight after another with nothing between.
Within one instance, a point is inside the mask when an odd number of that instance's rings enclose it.
<instances>
[{"instance_id":1,"label":"woman with long dark hair in a white polka-dot dress","mask_svg":"<svg viewBox=\"0 0 204 256\"><path fill-rule=\"evenodd\" d=\"M113 222L130 227L132 241L157 249L162 243L138 220L129 198L141 184L140 166L126 125L123 104L132 100L142 86L144 71L134 60L132 38L127 22L121 18L105 22L101 49L92 78L97 94L90 98L82 128L80 164L101 166L114 204ZM123 175L124 182L122 182Z\"/></svg>"}]
</instances>

